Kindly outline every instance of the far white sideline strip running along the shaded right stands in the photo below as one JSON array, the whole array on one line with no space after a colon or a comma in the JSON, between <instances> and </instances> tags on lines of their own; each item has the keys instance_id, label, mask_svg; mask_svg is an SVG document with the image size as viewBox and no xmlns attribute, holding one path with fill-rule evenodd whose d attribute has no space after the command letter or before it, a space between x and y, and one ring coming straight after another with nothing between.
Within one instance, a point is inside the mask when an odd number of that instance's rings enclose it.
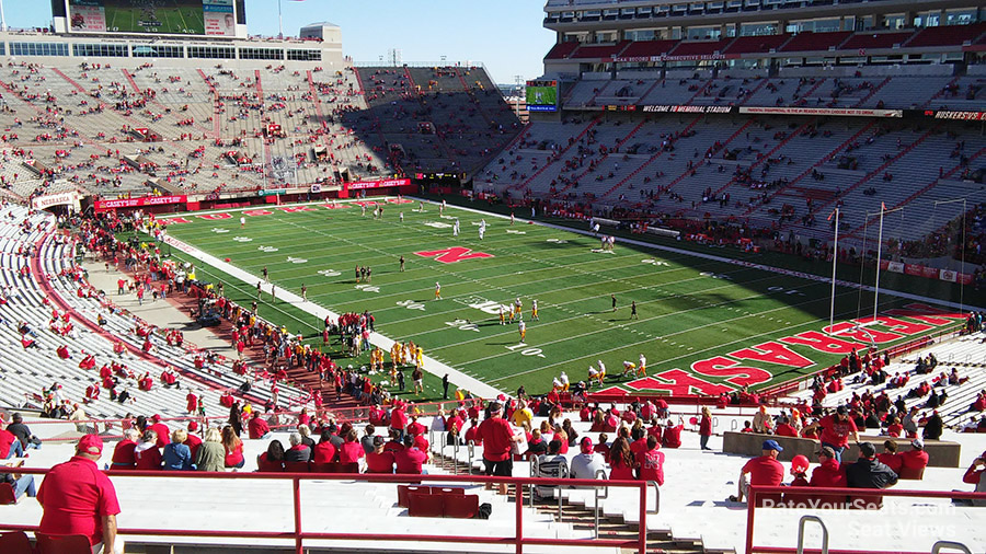
<instances>
[{"instance_id":1,"label":"far white sideline strip running along the shaded right stands","mask_svg":"<svg viewBox=\"0 0 986 554\"><path fill-rule=\"evenodd\" d=\"M417 198L414 196L405 196L404 198L414 198L415 200L419 200L419 201L426 201L429 204L435 204L432 200L424 200L422 198ZM459 205L454 205L452 207L457 208L457 209L470 211L473 213L482 213L486 217L492 216L492 217L497 217L501 219L509 219L509 216L503 216L500 213L491 213L491 212L482 211L482 210L479 210L475 208L467 208L465 206L459 206ZM524 218L514 218L514 219L521 223L532 222L536 226L547 227L549 229L554 229L558 231L567 231L567 232L572 232L572 233L582 234L584 236L594 236L591 231L586 231L586 230L582 230L582 229L574 229L571 227L560 226L560 224L555 224L555 223L548 223L548 222L543 222L543 221L536 221L536 220L531 220L531 219L524 219ZM777 274L781 274L781 275L787 275L789 277L798 277L798 278L805 279L805 280L813 280L813 281L817 281L817 282L832 282L830 277L823 277L821 275L815 275L815 274L810 274L810 273L804 273L804 272L795 272L793 269L784 269L782 267L773 267L773 266L764 265L764 264L756 264L753 262L746 262L744 259L716 256L714 254L706 254L703 252L696 252L693 250L676 249L674 246L664 246L662 244L656 244L653 242L645 242L645 241L638 241L634 239L621 239L619 236L616 238L616 241L624 243L624 244L632 244L634 246L640 246L643 249L660 250L660 251L670 252L674 254L680 254L680 255L685 255L685 256L699 257L702 259L709 259L712 262L720 262L723 264L736 265L736 266L746 267L749 269L760 269L763 272L777 273ZM865 290L869 292L873 292L875 290L875 288L871 285L860 285L858 282L850 282L850 281L846 281L842 279L836 279L836 285L838 285L840 287L852 288L852 289L862 289L862 290ZM910 292L904 292L901 290L894 290L894 289L888 289L888 288L883 288L883 287L880 288L880 293L890 295L893 297L905 298L907 300L917 300L917 301L927 302L930 304L947 305L949 308L962 309L963 311L986 310L986 308L981 307L981 305L973 305L971 303L959 304L958 302L952 302L950 300L939 300L937 298L924 297L920 295L913 295Z\"/></svg>"}]
</instances>

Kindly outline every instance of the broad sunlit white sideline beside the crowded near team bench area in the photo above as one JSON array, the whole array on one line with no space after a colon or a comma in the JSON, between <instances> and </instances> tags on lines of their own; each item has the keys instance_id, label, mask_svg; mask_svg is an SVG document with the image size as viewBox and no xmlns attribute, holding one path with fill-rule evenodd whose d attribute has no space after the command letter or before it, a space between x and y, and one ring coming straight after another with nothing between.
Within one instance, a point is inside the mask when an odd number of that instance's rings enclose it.
<instances>
[{"instance_id":1,"label":"broad sunlit white sideline beside the crowded near team bench area","mask_svg":"<svg viewBox=\"0 0 986 554\"><path fill-rule=\"evenodd\" d=\"M186 243L171 236L170 234L167 234L167 233L164 234L164 243L182 251L183 253L194 257L195 259L198 259L199 262L208 264L208 265L215 267L216 269L219 269L220 272L225 272L225 273L229 274L230 276L236 277L237 279L240 279L248 287L253 287L257 281L261 281L261 287L262 287L263 291L268 295L271 293L271 289L274 287L273 284L263 282L262 278L256 277L255 275L252 275L249 272L240 269L239 267L236 267L232 264L223 262L222 259L220 259L211 254L207 254L190 244L186 244ZM279 295L280 295L282 300L294 304L295 308L297 308L303 312L314 315L316 318L319 319L319 321L323 321L323 320L325 320L325 318L331 318L332 320L339 319L337 313L335 313L331 310L328 310L325 308L322 308L321 305L318 305L314 302L302 301L301 297L299 297L298 295L296 295L289 290L282 288ZM376 332L370 333L370 344L372 344L374 346L379 346L380 348L383 349L383 351L390 351L390 347L393 346L393 343L394 343L394 341L392 338L388 338L388 337L381 335L380 333L376 333ZM500 394L505 394L503 391L500 391L498 389L495 389L475 378L469 377L466 373L462 373L461 371L459 371L450 366L447 366L438 360L435 360L434 358L431 358L429 356L424 357L424 370L427 371L428 373L432 373L439 378L444 373L448 373L448 380L449 380L450 384L452 384L459 389L462 389L465 391L469 391L474 396L479 396L482 399L493 399Z\"/></svg>"}]
</instances>

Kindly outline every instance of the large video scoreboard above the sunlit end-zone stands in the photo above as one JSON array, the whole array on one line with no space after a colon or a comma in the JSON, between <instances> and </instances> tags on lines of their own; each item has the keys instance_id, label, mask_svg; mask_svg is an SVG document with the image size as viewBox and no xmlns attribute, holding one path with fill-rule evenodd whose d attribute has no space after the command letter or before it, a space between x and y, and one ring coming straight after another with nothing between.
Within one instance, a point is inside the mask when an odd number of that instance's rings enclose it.
<instances>
[{"instance_id":1,"label":"large video scoreboard above the sunlit end-zone stands","mask_svg":"<svg viewBox=\"0 0 986 554\"><path fill-rule=\"evenodd\" d=\"M70 33L236 36L233 0L66 0Z\"/></svg>"}]
</instances>

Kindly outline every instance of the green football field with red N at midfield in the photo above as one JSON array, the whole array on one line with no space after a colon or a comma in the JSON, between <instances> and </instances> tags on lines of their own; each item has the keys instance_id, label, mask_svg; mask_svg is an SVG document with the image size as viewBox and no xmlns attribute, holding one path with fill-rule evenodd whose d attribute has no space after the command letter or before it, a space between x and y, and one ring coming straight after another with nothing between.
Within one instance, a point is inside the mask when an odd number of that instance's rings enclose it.
<instances>
[{"instance_id":1,"label":"green football field with red N at midfield","mask_svg":"<svg viewBox=\"0 0 986 554\"><path fill-rule=\"evenodd\" d=\"M807 338L816 343L830 338L822 335L828 324L829 282L622 242L605 251L591 235L519 221L512 226L508 219L452 207L439 217L436 205L420 211L416 200L383 205L379 220L372 207L363 215L352 203L337 206L185 213L181 217L187 222L172 222L168 232L252 275L248 281L196 263L197 277L222 281L234 301L249 305L256 298L256 281L266 267L278 287L300 295L305 285L308 300L337 313L369 310L378 333L411 339L426 356L505 392L519 385L529 393L544 392L562 371L573 382L586 380L588 366L597 360L607 367L605 388L678 393L716 393L743 384L759 389L837 362L842 356L835 351L838 347L874 339L888 346L959 321L915 320L898 312L896 323L861 330L846 324L819 349L794 335L810 332ZM455 218L461 228L458 238L452 236ZM482 219L488 223L484 240L478 232ZM710 252L738 254L734 249ZM179 255L176 250L171 254ZM356 282L356 266L372 268L371 282ZM440 300L435 299L436 282ZM500 304L518 297L527 325L523 343L518 325L501 325L497 315ZM880 298L881 313L916 302ZM531 319L535 299L539 321ZM836 320L872 315L872 292L838 287ZM296 303L270 301L263 295L262 316L321 345L320 321ZM631 319L631 302L637 303L637 319ZM623 361L637 362L641 354L650 378L620 379ZM342 356L340 362L366 363L365 358ZM432 396L435 382L428 381Z\"/></svg>"}]
</instances>

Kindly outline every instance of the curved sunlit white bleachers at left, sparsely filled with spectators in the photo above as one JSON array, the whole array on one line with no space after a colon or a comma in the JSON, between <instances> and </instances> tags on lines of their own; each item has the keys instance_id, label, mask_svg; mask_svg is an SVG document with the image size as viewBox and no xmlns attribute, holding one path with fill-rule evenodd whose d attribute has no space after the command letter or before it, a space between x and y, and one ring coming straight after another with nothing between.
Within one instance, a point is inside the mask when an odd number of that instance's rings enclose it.
<instances>
[{"instance_id":1,"label":"curved sunlit white bleachers at left, sparsely filled with spectators","mask_svg":"<svg viewBox=\"0 0 986 554\"><path fill-rule=\"evenodd\" d=\"M8 215L12 213L13 218ZM3 220L0 223L0 265L2 265L2 278L7 290L8 302L0 307L0 316L3 325L0 325L0 361L4 367L2 378L4 385L0 388L0 404L8 406L42 407L42 391L50 389L53 384L61 385L61 396L72 402L82 403L85 396L85 388L93 382L99 383L98 371L104 363L112 360L125 363L140 379L149 373L154 380L150 391L141 391L136 380L122 379L119 391L127 389L133 403L119 404L110 399L107 391L103 391L100 399L85 405L88 415L96 418L118 418L128 412L137 414L160 413L167 416L181 416L185 413L185 395L188 390L194 390L203 397L206 414L218 416L226 413L219 405L220 391L236 390L244 379L237 376L228 363L206 365L203 369L196 369L194 351L177 346L169 346L161 335L156 335L152 342L156 351L149 357L131 354L140 351L142 339L135 334L136 327L141 324L131 315L111 309L105 299L89 298L77 293L84 282L77 281L71 273L65 272L73 266L72 245L69 242L56 241L51 231L54 217L48 215L27 216L24 208L8 206L3 209ZM28 219L33 230L30 234L21 231L21 221ZM39 284L42 277L30 270L22 276L19 269L31 267L31 259L26 255L18 255L20 247L38 244L37 259L41 270L53 287L53 293L71 308L74 331L66 336L56 334L48 327L51 310L57 309L57 302L49 297L45 288ZM46 302L46 299L48 302ZM64 310L59 310L65 313ZM95 320L99 314L106 319L103 332L92 332L98 328ZM90 328L80 320L88 320ZM26 322L34 332L34 341L37 348L25 348L21 344L21 334L18 332L20 322ZM113 353L113 339L121 339L127 344L130 350L122 356ZM67 346L71 359L62 360L56 355L56 348ZM188 345L185 345L186 347ZM83 370L79 368L79 361L85 354L92 354L95 358L95 369ZM165 368L175 368L182 379L181 388L167 388L159 382L159 376ZM297 403L305 396L298 389L280 384L278 402L282 407ZM262 382L254 383L248 400L263 404L271 400L270 386Z\"/></svg>"}]
</instances>

